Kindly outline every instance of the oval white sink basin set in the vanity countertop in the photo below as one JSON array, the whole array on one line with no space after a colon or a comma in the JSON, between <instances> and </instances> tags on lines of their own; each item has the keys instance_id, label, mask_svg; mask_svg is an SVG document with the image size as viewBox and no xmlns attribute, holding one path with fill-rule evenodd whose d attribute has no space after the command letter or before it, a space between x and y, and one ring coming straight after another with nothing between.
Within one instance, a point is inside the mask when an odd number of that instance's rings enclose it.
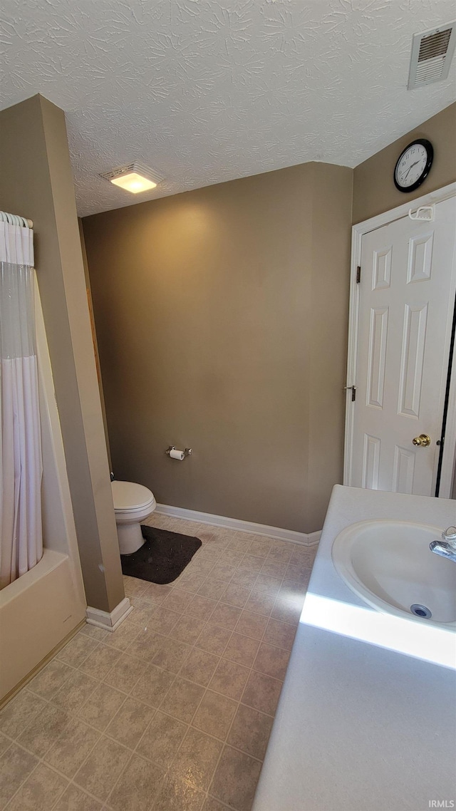
<instances>
[{"instance_id":1,"label":"oval white sink basin set in the vanity countertop","mask_svg":"<svg viewBox=\"0 0 456 811\"><path fill-rule=\"evenodd\" d=\"M374 608L456 626L456 563L429 549L440 537L441 528L424 524L359 521L338 534L333 564L347 586Z\"/></svg>"}]
</instances>

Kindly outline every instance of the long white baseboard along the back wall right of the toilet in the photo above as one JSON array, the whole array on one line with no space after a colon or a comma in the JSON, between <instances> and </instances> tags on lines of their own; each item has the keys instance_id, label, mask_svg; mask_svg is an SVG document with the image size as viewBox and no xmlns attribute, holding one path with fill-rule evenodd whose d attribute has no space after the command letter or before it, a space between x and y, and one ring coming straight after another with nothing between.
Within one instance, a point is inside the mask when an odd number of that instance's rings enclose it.
<instances>
[{"instance_id":1,"label":"long white baseboard along the back wall right of the toilet","mask_svg":"<svg viewBox=\"0 0 456 811\"><path fill-rule=\"evenodd\" d=\"M199 513L193 509L183 507L171 507L169 504L157 504L157 513L169 515L173 518L185 518L186 521L196 521L198 524L209 524L212 526L226 527L227 530L237 532L251 532L254 535L263 535L265 538L274 538L291 543L300 543L305 547L313 547L320 540L319 532L295 532L295 530L282 530L278 526L266 526L266 524L254 524L252 521L240 521L239 518L228 518L224 515L212 515L211 513Z\"/></svg>"}]
</instances>

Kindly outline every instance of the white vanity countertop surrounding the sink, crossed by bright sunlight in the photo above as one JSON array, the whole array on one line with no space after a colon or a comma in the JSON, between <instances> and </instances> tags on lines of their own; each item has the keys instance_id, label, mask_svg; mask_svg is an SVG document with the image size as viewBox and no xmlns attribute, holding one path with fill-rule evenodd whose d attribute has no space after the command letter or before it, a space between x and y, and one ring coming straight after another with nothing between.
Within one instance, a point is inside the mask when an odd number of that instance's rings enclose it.
<instances>
[{"instance_id":1,"label":"white vanity countertop surrounding the sink, crossed by bright sunlight","mask_svg":"<svg viewBox=\"0 0 456 811\"><path fill-rule=\"evenodd\" d=\"M427 661L425 640L423 658L400 651L409 620L383 640L398 650L367 642L385 615L352 593L331 560L336 535L373 518L444 529L456 522L456 501L333 488L252 811L428 811L432 800L456 809L454 669ZM456 663L456 637L437 633Z\"/></svg>"}]
</instances>

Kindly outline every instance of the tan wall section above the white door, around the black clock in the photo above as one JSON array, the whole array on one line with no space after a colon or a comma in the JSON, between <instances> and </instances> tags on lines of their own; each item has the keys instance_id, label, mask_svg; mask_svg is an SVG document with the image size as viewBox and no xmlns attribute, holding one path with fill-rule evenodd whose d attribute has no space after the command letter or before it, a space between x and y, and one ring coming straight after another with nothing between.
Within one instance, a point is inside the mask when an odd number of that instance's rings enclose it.
<instances>
[{"instance_id":1,"label":"tan wall section above the white door, around the black clock","mask_svg":"<svg viewBox=\"0 0 456 811\"><path fill-rule=\"evenodd\" d=\"M394 186L393 173L402 149L415 138L427 138L431 141L434 161L424 183L406 194ZM407 203L407 200L415 200L428 191L435 191L454 181L456 102L356 166L353 175L353 222L368 220L369 217L375 217L376 214L389 211L389 208Z\"/></svg>"}]
</instances>

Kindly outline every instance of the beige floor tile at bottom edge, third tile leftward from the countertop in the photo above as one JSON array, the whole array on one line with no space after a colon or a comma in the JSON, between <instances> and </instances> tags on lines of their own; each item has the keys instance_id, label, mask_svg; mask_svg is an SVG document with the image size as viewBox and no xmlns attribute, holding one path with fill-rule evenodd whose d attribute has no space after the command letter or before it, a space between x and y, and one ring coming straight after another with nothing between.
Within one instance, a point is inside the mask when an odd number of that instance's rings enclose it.
<instances>
[{"instance_id":1,"label":"beige floor tile at bottom edge, third tile leftward from the countertop","mask_svg":"<svg viewBox=\"0 0 456 811\"><path fill-rule=\"evenodd\" d=\"M133 755L110 795L110 807L114 811L150 811L162 777L157 766Z\"/></svg>"}]
</instances>

